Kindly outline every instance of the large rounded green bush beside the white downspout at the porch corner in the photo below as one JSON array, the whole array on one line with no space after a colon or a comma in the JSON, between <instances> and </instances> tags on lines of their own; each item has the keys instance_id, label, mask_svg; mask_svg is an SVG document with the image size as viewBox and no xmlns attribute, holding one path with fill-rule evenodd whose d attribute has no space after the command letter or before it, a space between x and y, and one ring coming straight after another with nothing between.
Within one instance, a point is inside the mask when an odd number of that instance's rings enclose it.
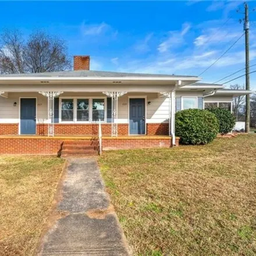
<instances>
[{"instance_id":1,"label":"large rounded green bush beside the white downspout at the porch corner","mask_svg":"<svg viewBox=\"0 0 256 256\"><path fill-rule=\"evenodd\" d=\"M219 122L214 113L204 109L186 109L175 116L176 136L182 144L207 144L216 138Z\"/></svg>"}]
</instances>

